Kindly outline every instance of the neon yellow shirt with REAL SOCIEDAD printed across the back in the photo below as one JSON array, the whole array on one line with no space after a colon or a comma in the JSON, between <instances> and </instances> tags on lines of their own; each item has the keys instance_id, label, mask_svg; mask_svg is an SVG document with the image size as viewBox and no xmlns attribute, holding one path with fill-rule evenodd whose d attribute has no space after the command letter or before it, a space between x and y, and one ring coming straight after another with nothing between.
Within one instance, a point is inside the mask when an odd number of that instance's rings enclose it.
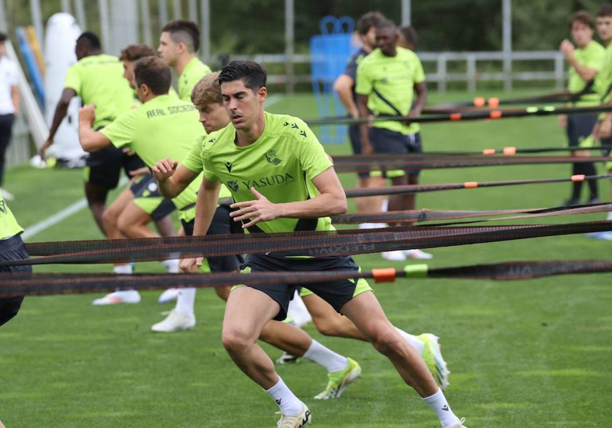
<instances>
[{"instance_id":1,"label":"neon yellow shirt with REAL SOCIEDAD printed across the back","mask_svg":"<svg viewBox=\"0 0 612 428\"><path fill-rule=\"evenodd\" d=\"M202 133L202 125L192 103L159 95L121 114L100 132L113 146L129 147L152 167L165 158L181 161L187 156ZM200 175L172 199L179 210L195 204L201 182Z\"/></svg>"}]
</instances>

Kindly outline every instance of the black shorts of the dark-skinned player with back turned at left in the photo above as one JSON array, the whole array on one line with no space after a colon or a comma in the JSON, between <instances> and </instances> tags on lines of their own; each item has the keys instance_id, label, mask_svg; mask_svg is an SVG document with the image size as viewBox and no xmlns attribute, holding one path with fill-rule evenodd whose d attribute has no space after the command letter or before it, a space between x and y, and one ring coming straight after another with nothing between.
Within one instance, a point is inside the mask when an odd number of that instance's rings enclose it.
<instances>
[{"instance_id":1,"label":"black shorts of the dark-skinned player with back turned at left","mask_svg":"<svg viewBox=\"0 0 612 428\"><path fill-rule=\"evenodd\" d=\"M135 171L144 166L144 162L138 155L127 155L123 150L114 146L89 153L86 163L85 181L104 186L108 190L116 188L119 184L121 169L129 177L130 171Z\"/></svg>"}]
</instances>

